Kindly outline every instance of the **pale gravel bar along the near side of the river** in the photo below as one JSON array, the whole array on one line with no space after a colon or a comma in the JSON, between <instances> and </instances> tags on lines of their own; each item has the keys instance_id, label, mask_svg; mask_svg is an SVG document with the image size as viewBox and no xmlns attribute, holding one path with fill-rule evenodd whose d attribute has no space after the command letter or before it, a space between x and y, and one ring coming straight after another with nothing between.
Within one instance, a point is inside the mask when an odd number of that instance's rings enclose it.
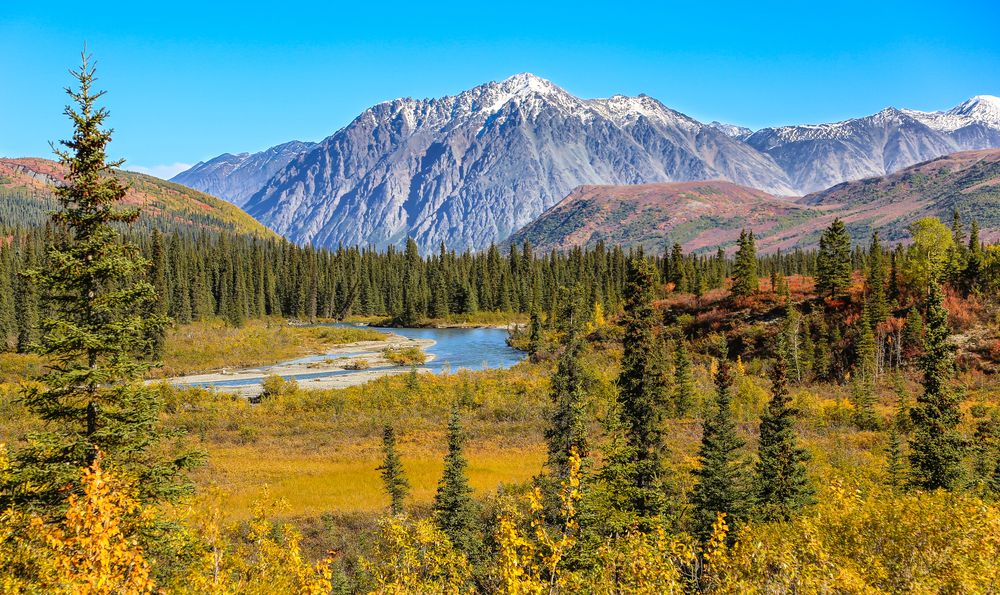
<instances>
[{"instance_id":1,"label":"pale gravel bar along the near side of the river","mask_svg":"<svg viewBox=\"0 0 1000 595\"><path fill-rule=\"evenodd\" d=\"M399 350L406 347L416 347L424 351L436 344L432 339L410 339L395 333L387 333L387 335L384 341L357 341L330 346L321 353L307 352L304 354L306 357L283 364L232 371L223 369L206 374L175 376L162 381L177 386L212 385L220 392L245 398L260 395L263 390L260 381L270 375L284 378L306 376L306 378L296 379L302 388L346 388L358 386L383 376L409 372L408 367L395 366L387 360L383 355L385 349ZM426 362L433 361L433 359L433 354L426 354ZM429 370L418 368L418 371L427 372ZM313 377L314 375L318 377ZM232 385L234 382L239 384L234 386Z\"/></svg>"}]
</instances>

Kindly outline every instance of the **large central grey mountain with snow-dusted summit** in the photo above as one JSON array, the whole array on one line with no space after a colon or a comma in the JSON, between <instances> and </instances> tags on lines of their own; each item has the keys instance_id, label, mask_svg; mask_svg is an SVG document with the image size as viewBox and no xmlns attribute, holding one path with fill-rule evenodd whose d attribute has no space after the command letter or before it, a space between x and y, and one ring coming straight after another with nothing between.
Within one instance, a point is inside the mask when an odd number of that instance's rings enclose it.
<instances>
[{"instance_id":1,"label":"large central grey mountain with snow-dusted summit","mask_svg":"<svg viewBox=\"0 0 1000 595\"><path fill-rule=\"evenodd\" d=\"M245 208L295 242L481 249L581 184L710 179L797 194L769 156L651 97L579 99L524 73L380 103Z\"/></svg>"}]
</instances>

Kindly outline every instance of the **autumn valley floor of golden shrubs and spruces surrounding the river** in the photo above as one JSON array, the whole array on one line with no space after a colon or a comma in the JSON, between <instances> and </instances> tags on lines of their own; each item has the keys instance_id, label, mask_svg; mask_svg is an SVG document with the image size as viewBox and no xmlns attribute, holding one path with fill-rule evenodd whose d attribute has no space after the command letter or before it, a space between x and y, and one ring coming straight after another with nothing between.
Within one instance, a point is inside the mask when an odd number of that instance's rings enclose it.
<instances>
[{"instance_id":1,"label":"autumn valley floor of golden shrubs and spruces surrounding the river","mask_svg":"<svg viewBox=\"0 0 1000 595\"><path fill-rule=\"evenodd\" d=\"M76 75L63 210L0 248L3 592L1000 591L975 221L733 258L137 234ZM373 338L289 318L482 313L525 361L259 404L155 380Z\"/></svg>"}]
</instances>

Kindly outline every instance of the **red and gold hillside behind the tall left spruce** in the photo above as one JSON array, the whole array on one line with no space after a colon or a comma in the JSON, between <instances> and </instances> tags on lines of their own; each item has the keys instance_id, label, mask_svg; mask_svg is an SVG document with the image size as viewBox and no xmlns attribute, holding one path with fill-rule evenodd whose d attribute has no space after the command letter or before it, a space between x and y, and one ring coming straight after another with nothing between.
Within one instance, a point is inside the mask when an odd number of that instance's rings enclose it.
<instances>
[{"instance_id":1,"label":"red and gold hillside behind the tall left spruce","mask_svg":"<svg viewBox=\"0 0 1000 595\"><path fill-rule=\"evenodd\" d=\"M65 183L66 168L49 159L0 159L0 225L40 223L59 208L53 190ZM170 232L228 231L274 237L274 232L228 202L145 174L119 171L131 184L126 199L143 207L139 226Z\"/></svg>"}]
</instances>

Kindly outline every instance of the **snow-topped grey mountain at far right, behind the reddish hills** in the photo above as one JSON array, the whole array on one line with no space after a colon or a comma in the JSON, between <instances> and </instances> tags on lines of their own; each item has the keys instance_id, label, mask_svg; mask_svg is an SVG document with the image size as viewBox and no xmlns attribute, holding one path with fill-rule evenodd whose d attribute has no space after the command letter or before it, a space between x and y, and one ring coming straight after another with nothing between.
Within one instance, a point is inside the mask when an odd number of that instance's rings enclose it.
<instances>
[{"instance_id":1,"label":"snow-topped grey mountain at far right, behind the reddish hills","mask_svg":"<svg viewBox=\"0 0 1000 595\"><path fill-rule=\"evenodd\" d=\"M764 128L745 140L806 194L949 153L998 148L1000 99L980 95L947 112L890 107L844 122Z\"/></svg>"}]
</instances>

